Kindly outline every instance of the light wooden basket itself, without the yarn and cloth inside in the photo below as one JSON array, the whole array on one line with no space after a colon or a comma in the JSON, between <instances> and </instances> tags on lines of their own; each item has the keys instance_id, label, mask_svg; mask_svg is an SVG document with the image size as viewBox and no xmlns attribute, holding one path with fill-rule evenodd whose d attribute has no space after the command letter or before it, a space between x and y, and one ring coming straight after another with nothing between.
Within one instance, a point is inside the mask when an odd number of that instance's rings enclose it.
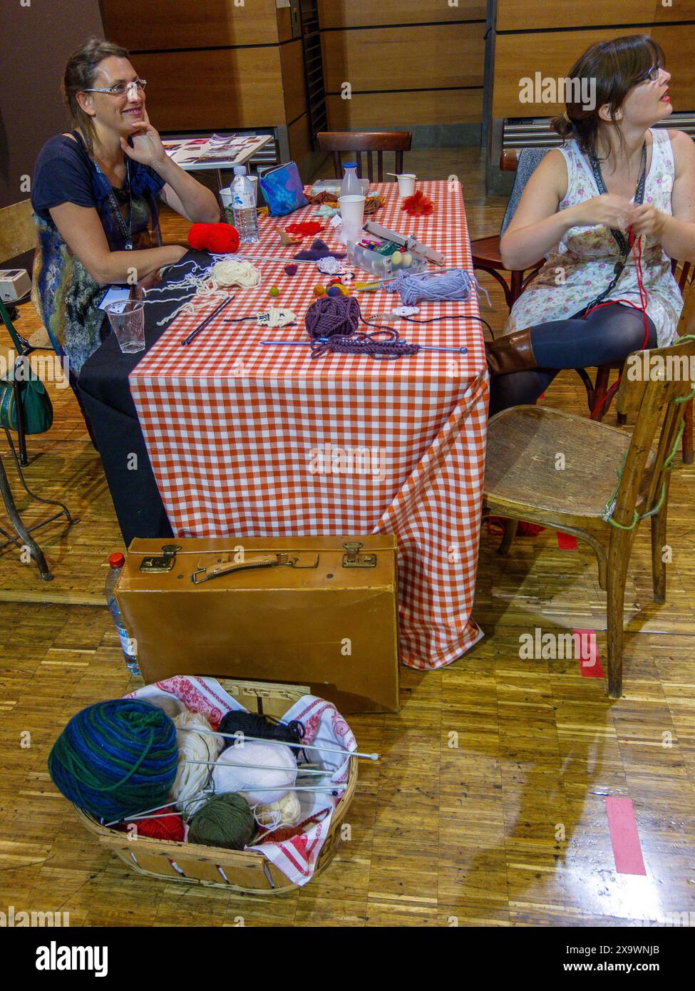
<instances>
[{"instance_id":1,"label":"light wooden basket itself, without the yarn and cloth inside","mask_svg":"<svg viewBox=\"0 0 695 991\"><path fill-rule=\"evenodd\" d=\"M297 686L273 685L265 682L244 682L217 679L222 688L234 696L252 713L266 716L283 716L290 706L309 690ZM314 869L314 877L325 870L340 841L340 826L348 811L357 787L357 760L350 761L345 795L331 819ZM164 881L180 881L183 884L202 884L213 888L253 894L282 895L297 886L256 850L226 850L219 846L202 846L199 843L178 843L166 839L138 837L129 839L125 832L117 832L99 823L83 809L75 806L77 816L90 832L95 833L102 846L117 853L121 860L138 874L161 878ZM310 883L310 882L309 882Z\"/></svg>"}]
</instances>

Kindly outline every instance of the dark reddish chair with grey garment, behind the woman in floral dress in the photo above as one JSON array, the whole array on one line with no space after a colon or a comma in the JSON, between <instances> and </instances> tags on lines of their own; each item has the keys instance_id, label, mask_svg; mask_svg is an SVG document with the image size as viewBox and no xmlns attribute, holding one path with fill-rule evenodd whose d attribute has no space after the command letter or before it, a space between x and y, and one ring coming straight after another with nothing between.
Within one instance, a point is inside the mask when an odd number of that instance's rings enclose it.
<instances>
[{"instance_id":1,"label":"dark reddish chair with grey garment, behind the woman in floral dress","mask_svg":"<svg viewBox=\"0 0 695 991\"><path fill-rule=\"evenodd\" d=\"M509 270L505 268L502 262L502 255L500 254L500 240L511 224L512 218L517 211L519 201L521 200L521 193L523 192L526 182L538 163L547 155L549 151L549 148L522 148L520 153L518 149L515 148L509 149L508 151L502 153L500 168L506 172L517 173L514 180L514 186L512 187L512 194L510 196L509 203L507 204L507 209L505 210L502 228L500 233L495 234L493 237L476 238L475 241L471 241L473 268L479 269L481 272L487 272L488 275L492 275L493 278L497 279L505 293L505 302L507 303L509 309L512 309L521 296L521 293L525 289L526 285L528 285L535 275L537 275L545 260L541 259L536 265L532 266L530 270L523 269L521 271L510 272L511 278L508 282L502 275L503 272L508 272Z\"/></svg>"}]
</instances>

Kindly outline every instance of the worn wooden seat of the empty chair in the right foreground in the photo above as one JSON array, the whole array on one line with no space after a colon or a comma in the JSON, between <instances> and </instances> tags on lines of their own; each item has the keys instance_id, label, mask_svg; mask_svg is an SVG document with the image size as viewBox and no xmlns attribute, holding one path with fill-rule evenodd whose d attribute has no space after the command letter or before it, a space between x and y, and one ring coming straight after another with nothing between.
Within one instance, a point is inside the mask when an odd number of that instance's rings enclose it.
<instances>
[{"instance_id":1,"label":"worn wooden seat of the empty chair in the right foreground","mask_svg":"<svg viewBox=\"0 0 695 991\"><path fill-rule=\"evenodd\" d=\"M485 499L510 509L537 509L558 522L600 520L630 441L630 434L615 427L546 406L504 409L488 426ZM556 467L558 455L564 456L564 469ZM652 452L639 502L648 493L653 461Z\"/></svg>"}]
</instances>

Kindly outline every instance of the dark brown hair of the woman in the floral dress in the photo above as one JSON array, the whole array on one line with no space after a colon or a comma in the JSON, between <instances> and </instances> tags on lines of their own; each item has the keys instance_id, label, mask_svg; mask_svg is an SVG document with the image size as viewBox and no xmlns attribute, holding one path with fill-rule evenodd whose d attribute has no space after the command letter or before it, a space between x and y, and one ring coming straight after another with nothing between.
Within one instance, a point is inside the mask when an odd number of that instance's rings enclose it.
<instances>
[{"instance_id":1,"label":"dark brown hair of the woman in the floral dress","mask_svg":"<svg viewBox=\"0 0 695 991\"><path fill-rule=\"evenodd\" d=\"M616 124L616 111L630 90L657 62L665 65L665 56L661 46L647 35L629 35L592 45L569 70L569 78L594 80L594 109L587 110L582 102L572 100L566 104L566 117L553 117L550 127L562 138L576 138L585 155L590 152L597 155L599 129L604 124L599 117L600 108L608 103L611 120ZM580 94L570 90L567 95ZM622 146L623 135L620 131L618 134Z\"/></svg>"}]
</instances>

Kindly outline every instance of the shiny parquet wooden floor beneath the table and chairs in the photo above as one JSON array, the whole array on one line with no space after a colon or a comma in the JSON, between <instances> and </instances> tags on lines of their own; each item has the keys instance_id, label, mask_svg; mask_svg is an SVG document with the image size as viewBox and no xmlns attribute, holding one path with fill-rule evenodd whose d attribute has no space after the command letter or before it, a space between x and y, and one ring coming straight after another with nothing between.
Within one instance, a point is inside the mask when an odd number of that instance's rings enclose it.
<instances>
[{"instance_id":1,"label":"shiny parquet wooden floor beneath the table and chairs","mask_svg":"<svg viewBox=\"0 0 695 991\"><path fill-rule=\"evenodd\" d=\"M407 165L460 175L471 237L498 230L504 200L486 199L478 150L413 152ZM186 228L165 217L168 238ZM484 284L501 327L501 293ZM37 326L23 307L18 329ZM67 718L137 681L101 605L106 557L121 540L99 459L72 393L49 385L56 424L30 439L27 478L80 522L39 531L52 583L12 548L0 554L0 908L68 912L89 926L630 926L695 912L693 468L672 480L665 606L650 599L647 529L637 536L620 701L576 660L520 657L520 635L536 627L596 629L605 653L589 552L560 550L545 532L504 559L484 532L474 615L485 639L442 671L404 668L400 716L350 717L361 748L382 754L360 768L351 840L301 891L240 897L130 874L50 781L48 752ZM573 373L545 401L584 413ZM635 804L646 876L616 872L606 795Z\"/></svg>"}]
</instances>

